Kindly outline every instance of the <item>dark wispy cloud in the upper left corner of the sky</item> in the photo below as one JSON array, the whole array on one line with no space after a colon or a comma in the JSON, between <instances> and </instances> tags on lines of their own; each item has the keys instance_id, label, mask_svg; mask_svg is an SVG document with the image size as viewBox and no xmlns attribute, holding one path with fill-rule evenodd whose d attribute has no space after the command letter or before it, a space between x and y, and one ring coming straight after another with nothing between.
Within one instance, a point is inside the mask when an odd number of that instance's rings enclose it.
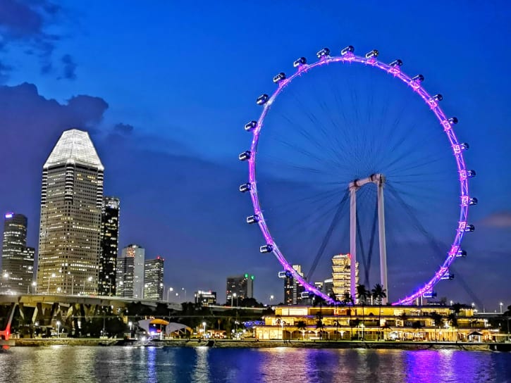
<instances>
[{"instance_id":1,"label":"dark wispy cloud in the upper left corner of the sky","mask_svg":"<svg viewBox=\"0 0 511 383\"><path fill-rule=\"evenodd\" d=\"M23 46L29 56L39 59L42 74L54 69L51 56L61 37L47 32L57 22L63 10L49 0L0 0L0 51L10 44ZM76 64L69 55L63 56L63 78L75 78Z\"/></svg>"}]
</instances>

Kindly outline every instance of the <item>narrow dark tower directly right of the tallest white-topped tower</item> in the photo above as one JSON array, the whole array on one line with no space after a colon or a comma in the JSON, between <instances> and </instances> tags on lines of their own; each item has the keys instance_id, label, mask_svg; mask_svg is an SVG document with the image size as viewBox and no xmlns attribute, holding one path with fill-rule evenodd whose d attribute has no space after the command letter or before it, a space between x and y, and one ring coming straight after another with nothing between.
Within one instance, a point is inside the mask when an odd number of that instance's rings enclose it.
<instances>
[{"instance_id":1,"label":"narrow dark tower directly right of the tallest white-topped tower","mask_svg":"<svg viewBox=\"0 0 511 383\"><path fill-rule=\"evenodd\" d=\"M99 295L116 295L120 208L118 198L103 198L103 208L101 209L101 253L99 254Z\"/></svg>"}]
</instances>

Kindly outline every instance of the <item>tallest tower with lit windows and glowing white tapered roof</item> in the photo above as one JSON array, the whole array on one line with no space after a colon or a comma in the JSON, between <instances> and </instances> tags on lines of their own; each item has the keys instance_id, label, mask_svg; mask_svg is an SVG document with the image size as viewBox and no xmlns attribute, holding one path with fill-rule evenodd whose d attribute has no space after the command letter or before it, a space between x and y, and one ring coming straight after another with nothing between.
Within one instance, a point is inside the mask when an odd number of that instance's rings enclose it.
<instances>
[{"instance_id":1,"label":"tallest tower with lit windows and glowing white tapered roof","mask_svg":"<svg viewBox=\"0 0 511 383\"><path fill-rule=\"evenodd\" d=\"M44 163L39 293L97 291L103 170L89 134L76 129L62 133Z\"/></svg>"}]
</instances>

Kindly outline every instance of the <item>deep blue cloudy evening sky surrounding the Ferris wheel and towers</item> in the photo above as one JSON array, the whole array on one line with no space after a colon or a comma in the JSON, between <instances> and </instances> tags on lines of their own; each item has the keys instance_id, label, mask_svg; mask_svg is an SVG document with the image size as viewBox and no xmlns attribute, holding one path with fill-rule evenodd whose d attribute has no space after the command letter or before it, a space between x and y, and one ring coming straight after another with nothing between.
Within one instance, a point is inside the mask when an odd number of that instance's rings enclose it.
<instances>
[{"instance_id":1,"label":"deep blue cloudy evening sky surrounding the Ferris wheel and towers","mask_svg":"<svg viewBox=\"0 0 511 383\"><path fill-rule=\"evenodd\" d=\"M121 199L120 248L163 256L166 286L185 288L187 300L212 289L223 302L226 277L250 272L259 301L281 301L278 262L244 223L243 125L295 58L376 48L443 94L471 144L476 232L455 263L461 280L439 295L492 311L511 304L511 6L340 3L0 0L0 211L27 215L37 247L42 165L61 132L78 127L104 164L105 194Z\"/></svg>"}]
</instances>

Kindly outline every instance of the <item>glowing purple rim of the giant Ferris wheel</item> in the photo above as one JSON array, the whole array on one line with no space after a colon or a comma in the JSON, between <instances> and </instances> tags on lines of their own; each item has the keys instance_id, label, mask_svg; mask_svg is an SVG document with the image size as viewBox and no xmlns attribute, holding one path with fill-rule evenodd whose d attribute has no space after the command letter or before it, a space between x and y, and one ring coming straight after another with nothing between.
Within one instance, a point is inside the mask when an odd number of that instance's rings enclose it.
<instances>
[{"instance_id":1,"label":"glowing purple rim of the giant Ferris wheel","mask_svg":"<svg viewBox=\"0 0 511 383\"><path fill-rule=\"evenodd\" d=\"M290 272L290 274L293 275L293 278L295 278L295 280L297 280L303 285L305 291L316 296L321 296L321 298L323 298L328 303L335 303L335 300L332 299L330 296L327 296L322 291L319 291L319 289L316 289L314 285L307 282L307 280L304 280L304 278L293 269L288 260L285 259L283 253L281 253L281 250L278 248L278 244L276 243L276 241L274 241L273 237L271 236L268 225L266 224L266 220L264 219L264 214L261 210L261 205L259 203L259 195L257 193L256 178L257 144L259 143L259 135L261 134L261 129L264 126L264 120L266 118L266 115L269 113L273 101L276 100L276 98L278 97L279 94L281 94L283 89L288 84L293 82L293 80L295 80L297 76L304 75L309 70L319 68L322 65L328 65L331 63L341 64L358 63L371 66L374 68L378 68L379 70L383 70L386 73L388 73L388 75L391 75L401 80L402 82L405 82L405 84L407 84L410 87L410 89L412 89L412 92L418 94L424 101L424 103L426 103L426 105L431 109L434 115L436 115L438 122L440 123L441 127L443 127L443 130L448 138L448 142L452 149L452 154L455 157L455 161L457 164L457 172L459 175L458 180L460 182L460 216L458 219L455 238L452 241L447 257L443 261L443 264L440 266L440 268L438 268L438 270L435 272L433 277L431 277L429 281L424 283L423 286L417 291L414 291L409 296L405 296L404 298L399 299L398 301L395 301L395 303L393 303L393 305L412 304L417 298L424 296L424 294L431 294L433 292L433 287L442 279L443 276L448 274L450 265L462 251L461 242L464 236L464 232L467 230L468 207L469 204L471 203L468 185L468 178L471 177L471 173L469 170L467 170L465 166L463 157L463 147L462 144L458 142L454 129L452 128L453 125L452 119L450 120L445 116L445 113L443 113L442 109L439 106L438 100L436 99L436 97L431 96L428 92L426 92L426 89L424 89L424 87L422 87L421 85L421 80L420 79L414 80L412 79L412 77L403 73L400 68L400 65L389 65L386 63L382 63L381 61L378 61L375 56L366 58L362 56L356 56L351 51L347 51L342 56L321 56L321 58L315 63L298 65L297 71L293 73L293 75L278 81L277 89L275 90L275 92L273 92L273 94L271 94L271 96L269 96L268 100L264 103L263 111L261 112L261 115L257 120L257 126L254 127L254 129L252 130L253 135L252 144L250 146L250 158L248 158L247 161L249 164L248 182L250 184L250 196L252 199L252 205L254 207L254 215L258 218L257 223L259 225L259 229L261 230L264 236L264 239L266 240L266 244L271 245L272 252L276 256L278 262L281 263L281 265L283 266L283 270Z\"/></svg>"}]
</instances>

